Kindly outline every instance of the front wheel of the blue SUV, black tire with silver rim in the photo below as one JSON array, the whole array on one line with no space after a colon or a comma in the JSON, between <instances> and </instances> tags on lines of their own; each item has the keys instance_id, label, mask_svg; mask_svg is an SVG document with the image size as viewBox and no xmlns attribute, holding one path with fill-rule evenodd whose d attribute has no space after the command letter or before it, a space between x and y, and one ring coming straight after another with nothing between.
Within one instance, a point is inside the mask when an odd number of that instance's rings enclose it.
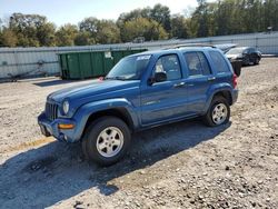
<instances>
[{"instance_id":1,"label":"front wheel of the blue SUV, black tire with silver rim","mask_svg":"<svg viewBox=\"0 0 278 209\"><path fill-rule=\"evenodd\" d=\"M122 120L102 117L86 130L82 150L87 159L100 166L110 166L126 155L130 142L130 130Z\"/></svg>"}]
</instances>

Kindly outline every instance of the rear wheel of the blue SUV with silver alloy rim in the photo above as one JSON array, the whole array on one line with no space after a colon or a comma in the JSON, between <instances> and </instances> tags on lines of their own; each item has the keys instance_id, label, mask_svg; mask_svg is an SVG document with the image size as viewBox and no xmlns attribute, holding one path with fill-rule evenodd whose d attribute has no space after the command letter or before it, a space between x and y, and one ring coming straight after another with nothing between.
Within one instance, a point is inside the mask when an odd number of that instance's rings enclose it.
<instances>
[{"instance_id":1,"label":"rear wheel of the blue SUV with silver alloy rim","mask_svg":"<svg viewBox=\"0 0 278 209\"><path fill-rule=\"evenodd\" d=\"M225 125L230 119L230 106L224 97L215 97L210 103L207 113L203 117L203 122L209 127Z\"/></svg>"}]
</instances>

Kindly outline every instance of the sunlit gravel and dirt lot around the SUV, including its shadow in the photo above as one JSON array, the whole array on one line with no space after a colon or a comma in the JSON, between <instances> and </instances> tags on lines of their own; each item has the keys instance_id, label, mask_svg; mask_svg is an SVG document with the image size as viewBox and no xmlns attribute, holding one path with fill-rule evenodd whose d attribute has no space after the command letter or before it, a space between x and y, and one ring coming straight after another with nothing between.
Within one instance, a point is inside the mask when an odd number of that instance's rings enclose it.
<instances>
[{"instance_id":1,"label":"sunlit gravel and dirt lot around the SUV, including its shadow","mask_svg":"<svg viewBox=\"0 0 278 209\"><path fill-rule=\"evenodd\" d=\"M109 168L37 126L47 94L80 82L0 83L0 208L278 208L278 58L244 68L238 81L230 123L137 133Z\"/></svg>"}]
</instances>

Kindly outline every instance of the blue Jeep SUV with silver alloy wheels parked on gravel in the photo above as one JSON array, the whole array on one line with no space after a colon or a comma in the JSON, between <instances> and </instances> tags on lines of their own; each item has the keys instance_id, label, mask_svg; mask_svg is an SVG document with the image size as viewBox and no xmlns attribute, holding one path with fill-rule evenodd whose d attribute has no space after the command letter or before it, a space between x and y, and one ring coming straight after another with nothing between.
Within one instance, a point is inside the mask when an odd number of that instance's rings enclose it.
<instances>
[{"instance_id":1,"label":"blue Jeep SUV with silver alloy wheels parked on gravel","mask_svg":"<svg viewBox=\"0 0 278 209\"><path fill-rule=\"evenodd\" d=\"M49 94L38 122L44 136L80 141L88 159L108 166L125 156L132 132L195 117L228 122L237 97L220 50L181 47L126 57L103 80Z\"/></svg>"}]
</instances>

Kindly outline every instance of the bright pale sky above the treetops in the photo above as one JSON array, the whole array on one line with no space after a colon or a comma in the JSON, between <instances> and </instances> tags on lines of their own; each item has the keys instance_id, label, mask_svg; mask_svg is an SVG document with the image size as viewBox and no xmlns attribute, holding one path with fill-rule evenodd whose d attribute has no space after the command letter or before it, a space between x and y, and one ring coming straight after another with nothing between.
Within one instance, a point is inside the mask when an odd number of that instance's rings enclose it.
<instances>
[{"instance_id":1,"label":"bright pale sky above the treetops","mask_svg":"<svg viewBox=\"0 0 278 209\"><path fill-rule=\"evenodd\" d=\"M0 18L8 19L13 12L37 13L61 26L87 17L116 20L122 12L156 3L168 6L171 13L185 13L197 6L196 0L0 0Z\"/></svg>"}]
</instances>

